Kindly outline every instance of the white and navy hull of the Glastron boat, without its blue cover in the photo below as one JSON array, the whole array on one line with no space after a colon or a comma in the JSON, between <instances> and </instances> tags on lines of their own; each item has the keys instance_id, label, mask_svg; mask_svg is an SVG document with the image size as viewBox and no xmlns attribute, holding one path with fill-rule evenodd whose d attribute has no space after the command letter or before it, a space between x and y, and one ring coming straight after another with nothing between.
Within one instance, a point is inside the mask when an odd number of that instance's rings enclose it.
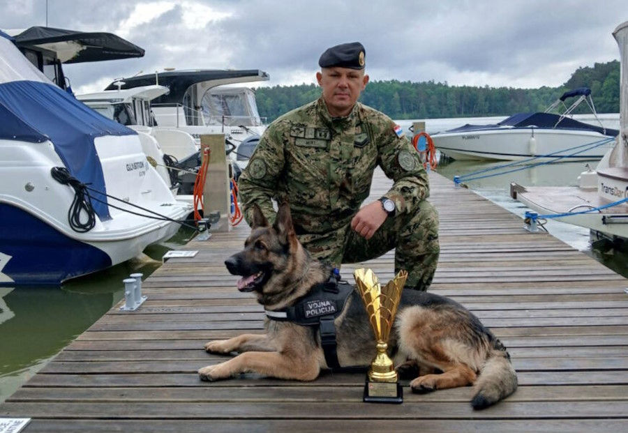
<instances>
[{"instance_id":1,"label":"white and navy hull of the Glastron boat, without its blue cover","mask_svg":"<svg viewBox=\"0 0 628 433\"><path fill-rule=\"evenodd\" d=\"M68 224L73 188L51 176L52 167L63 167L52 144L0 139L0 161L10 162L0 164L5 180L0 186L0 285L61 284L122 263L171 237L180 227L174 221L192 210L174 200L136 135L95 141L106 191L121 201L110 198L115 207L109 218L96 215L94 227L81 232ZM156 214L166 220L144 216Z\"/></svg>"}]
</instances>

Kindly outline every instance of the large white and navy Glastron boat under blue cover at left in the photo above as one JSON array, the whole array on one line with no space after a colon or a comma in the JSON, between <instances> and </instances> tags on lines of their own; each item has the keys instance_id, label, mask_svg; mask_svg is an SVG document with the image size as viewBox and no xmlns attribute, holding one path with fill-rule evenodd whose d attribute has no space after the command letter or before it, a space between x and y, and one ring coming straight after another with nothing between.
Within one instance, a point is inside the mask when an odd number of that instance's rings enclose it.
<instances>
[{"instance_id":1,"label":"large white and navy Glastron boat under blue cover at left","mask_svg":"<svg viewBox=\"0 0 628 433\"><path fill-rule=\"evenodd\" d=\"M172 236L191 206L137 132L55 86L11 39L0 32L0 285L59 284Z\"/></svg>"}]
</instances>

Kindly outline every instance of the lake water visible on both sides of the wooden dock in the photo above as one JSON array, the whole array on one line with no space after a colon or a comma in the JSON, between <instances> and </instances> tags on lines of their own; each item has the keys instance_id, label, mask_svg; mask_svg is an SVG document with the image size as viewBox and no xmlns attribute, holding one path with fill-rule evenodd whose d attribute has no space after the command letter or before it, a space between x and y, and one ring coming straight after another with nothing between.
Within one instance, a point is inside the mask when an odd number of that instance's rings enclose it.
<instances>
[{"instance_id":1,"label":"lake water visible on both sides of the wooden dock","mask_svg":"<svg viewBox=\"0 0 628 433\"><path fill-rule=\"evenodd\" d=\"M428 119L426 130L433 133L464 123L495 123L502 119L504 117ZM604 119L608 128L618 128L618 115L608 115ZM404 130L412 125L412 121L398 123ZM443 176L453 179L454 176L503 164L504 162L450 161L442 162L437 170ZM590 162L590 165L595 168L595 162ZM568 162L542 165L465 183L479 195L523 217L526 208L509 197L511 182L521 185L577 185L576 179L584 170L583 162ZM608 243L591 245L587 229L553 220L548 221L546 227L562 241L628 276L628 256ZM146 251L147 257L143 260L128 261L97 275L73 280L61 287L0 287L0 402L13 394L50 358L118 303L123 297L124 278L136 272L143 273L146 278L160 266L160 259L168 249L183 245L192 234L189 229L181 229L164 245L149 248Z\"/></svg>"}]
</instances>

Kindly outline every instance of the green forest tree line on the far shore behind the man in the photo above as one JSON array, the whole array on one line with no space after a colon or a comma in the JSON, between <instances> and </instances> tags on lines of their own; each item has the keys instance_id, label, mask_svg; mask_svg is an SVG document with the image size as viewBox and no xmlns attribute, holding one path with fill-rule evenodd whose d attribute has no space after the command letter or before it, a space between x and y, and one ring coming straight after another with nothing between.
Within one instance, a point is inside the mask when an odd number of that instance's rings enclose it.
<instances>
[{"instance_id":1,"label":"green forest tree line on the far shore behind the man","mask_svg":"<svg viewBox=\"0 0 628 433\"><path fill-rule=\"evenodd\" d=\"M449 86L447 82L434 80L372 81L361 94L360 102L400 120L509 116L516 112L542 112L562 93L578 87L591 89L597 112L618 113L620 62L614 60L578 68L562 86L539 89ZM271 122L319 96L320 87L315 84L260 87L256 90L257 109L260 116ZM581 106L577 112L587 112L587 109Z\"/></svg>"}]
</instances>

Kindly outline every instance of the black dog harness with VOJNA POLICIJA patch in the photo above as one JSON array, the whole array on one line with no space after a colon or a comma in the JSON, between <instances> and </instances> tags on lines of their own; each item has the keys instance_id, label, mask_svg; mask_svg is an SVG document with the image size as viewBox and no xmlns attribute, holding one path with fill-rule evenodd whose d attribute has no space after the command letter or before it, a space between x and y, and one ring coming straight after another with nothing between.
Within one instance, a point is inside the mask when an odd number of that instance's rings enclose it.
<instances>
[{"instance_id":1,"label":"black dog harness with VOJNA POLICIJA patch","mask_svg":"<svg viewBox=\"0 0 628 433\"><path fill-rule=\"evenodd\" d=\"M334 319L343 311L352 291L351 284L341 280L337 273L332 273L327 282L316 284L298 303L281 310L266 310L266 315L271 320L290 321L300 326L318 326L327 365L330 368L340 368L336 353Z\"/></svg>"}]
</instances>

